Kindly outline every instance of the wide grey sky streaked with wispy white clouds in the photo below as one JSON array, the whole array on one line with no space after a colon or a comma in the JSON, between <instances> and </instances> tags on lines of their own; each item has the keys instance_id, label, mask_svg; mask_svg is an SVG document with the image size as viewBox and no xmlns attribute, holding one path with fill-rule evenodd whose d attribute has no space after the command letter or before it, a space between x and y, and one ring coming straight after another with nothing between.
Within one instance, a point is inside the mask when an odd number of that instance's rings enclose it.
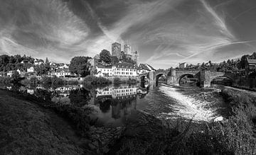
<instances>
[{"instance_id":1,"label":"wide grey sky streaked with wispy white clouds","mask_svg":"<svg viewBox=\"0 0 256 155\"><path fill-rule=\"evenodd\" d=\"M156 69L256 51L255 0L0 0L0 54L69 63L128 43Z\"/></svg>"}]
</instances>

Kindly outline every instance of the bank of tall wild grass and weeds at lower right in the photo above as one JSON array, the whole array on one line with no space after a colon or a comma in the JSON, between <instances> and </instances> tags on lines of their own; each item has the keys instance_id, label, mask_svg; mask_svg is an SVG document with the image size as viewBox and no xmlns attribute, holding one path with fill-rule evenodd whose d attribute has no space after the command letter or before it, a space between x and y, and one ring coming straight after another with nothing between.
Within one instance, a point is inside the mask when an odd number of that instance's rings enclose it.
<instances>
[{"instance_id":1,"label":"bank of tall wild grass and weeds at lower right","mask_svg":"<svg viewBox=\"0 0 256 155\"><path fill-rule=\"evenodd\" d=\"M223 98L233 109L226 122L160 125L159 120L138 116L127 124L117 154L256 154L255 96L225 88ZM139 121L142 120L142 121ZM199 126L199 127L195 127Z\"/></svg>"}]
</instances>

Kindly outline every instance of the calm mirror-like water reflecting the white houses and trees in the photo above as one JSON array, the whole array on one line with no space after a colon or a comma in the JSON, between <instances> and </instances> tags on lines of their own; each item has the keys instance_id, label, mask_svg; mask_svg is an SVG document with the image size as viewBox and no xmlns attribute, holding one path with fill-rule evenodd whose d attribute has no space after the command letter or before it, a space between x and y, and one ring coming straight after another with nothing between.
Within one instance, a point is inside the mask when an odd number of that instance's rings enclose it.
<instances>
[{"instance_id":1,"label":"calm mirror-like water reflecting the white houses and trees","mask_svg":"<svg viewBox=\"0 0 256 155\"><path fill-rule=\"evenodd\" d=\"M86 88L83 85L72 86L5 86L5 88L53 101L55 103L73 104L78 107L90 105L95 108L93 117L104 125L119 126L126 117L136 110L137 101L149 93L149 84L105 86ZM153 87L154 88L154 87Z\"/></svg>"}]
</instances>

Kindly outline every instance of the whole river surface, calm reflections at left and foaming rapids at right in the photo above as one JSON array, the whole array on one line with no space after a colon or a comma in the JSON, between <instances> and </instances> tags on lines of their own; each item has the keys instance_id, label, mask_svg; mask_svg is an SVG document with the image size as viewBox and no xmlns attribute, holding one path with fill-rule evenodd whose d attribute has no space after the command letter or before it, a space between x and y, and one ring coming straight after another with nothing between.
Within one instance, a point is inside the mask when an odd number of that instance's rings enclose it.
<instances>
[{"instance_id":1,"label":"whole river surface, calm reflections at left and foaming rapids at right","mask_svg":"<svg viewBox=\"0 0 256 155\"><path fill-rule=\"evenodd\" d=\"M1 86L13 89L13 86ZM141 110L166 120L185 119L210 122L228 115L223 98L216 88L168 86L166 84L104 86L86 88L83 85L21 86L19 91L47 98L53 102L89 105L97 123L107 126L123 125L134 110Z\"/></svg>"}]
</instances>

